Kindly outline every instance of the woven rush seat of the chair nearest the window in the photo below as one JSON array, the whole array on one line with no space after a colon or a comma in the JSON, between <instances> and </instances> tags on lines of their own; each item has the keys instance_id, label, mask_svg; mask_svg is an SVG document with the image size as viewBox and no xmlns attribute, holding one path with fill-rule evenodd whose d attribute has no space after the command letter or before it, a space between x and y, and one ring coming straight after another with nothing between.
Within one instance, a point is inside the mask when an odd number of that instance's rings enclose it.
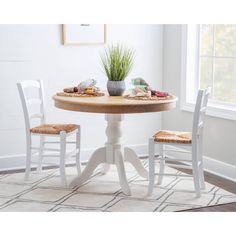
<instances>
[{"instance_id":1,"label":"woven rush seat of the chair nearest the window","mask_svg":"<svg viewBox=\"0 0 236 236\"><path fill-rule=\"evenodd\" d=\"M161 130L153 135L153 137L156 142L184 144L192 143L192 133L190 132Z\"/></svg>"}]
</instances>

